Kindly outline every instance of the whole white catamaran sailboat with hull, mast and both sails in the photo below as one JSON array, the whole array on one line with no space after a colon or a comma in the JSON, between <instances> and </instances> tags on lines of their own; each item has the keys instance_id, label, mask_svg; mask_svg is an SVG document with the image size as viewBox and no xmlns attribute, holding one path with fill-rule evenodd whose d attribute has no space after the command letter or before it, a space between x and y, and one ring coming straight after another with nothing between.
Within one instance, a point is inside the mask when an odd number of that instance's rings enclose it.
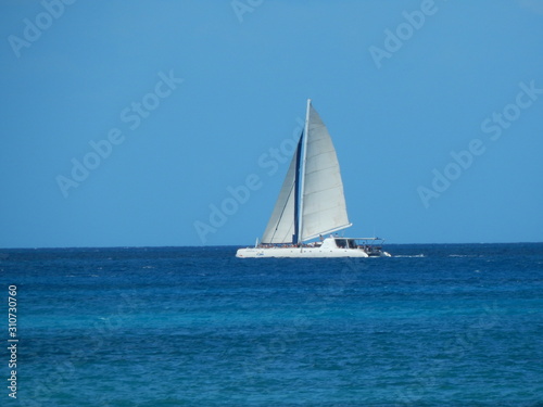
<instances>
[{"instance_id":1,"label":"whole white catamaran sailboat with hull, mast and both sails","mask_svg":"<svg viewBox=\"0 0 543 407\"><path fill-rule=\"evenodd\" d=\"M304 131L266 230L236 257L390 257L383 239L338 236L350 226L336 149L308 99Z\"/></svg>"}]
</instances>

